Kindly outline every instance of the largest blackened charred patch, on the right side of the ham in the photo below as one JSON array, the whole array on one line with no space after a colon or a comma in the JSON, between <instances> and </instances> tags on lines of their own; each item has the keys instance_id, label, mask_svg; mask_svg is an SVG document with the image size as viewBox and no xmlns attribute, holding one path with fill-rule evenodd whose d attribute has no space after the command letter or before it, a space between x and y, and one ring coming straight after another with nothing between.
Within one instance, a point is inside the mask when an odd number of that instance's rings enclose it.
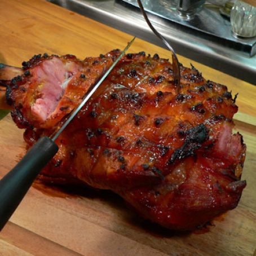
<instances>
[{"instance_id":1,"label":"largest blackened charred patch, on the right side of the ham","mask_svg":"<svg viewBox=\"0 0 256 256\"><path fill-rule=\"evenodd\" d=\"M195 126L186 132L186 139L182 147L176 149L169 159L169 164L178 159L195 156L196 150L202 147L202 143L209 139L209 131L204 124Z\"/></svg>"}]
</instances>

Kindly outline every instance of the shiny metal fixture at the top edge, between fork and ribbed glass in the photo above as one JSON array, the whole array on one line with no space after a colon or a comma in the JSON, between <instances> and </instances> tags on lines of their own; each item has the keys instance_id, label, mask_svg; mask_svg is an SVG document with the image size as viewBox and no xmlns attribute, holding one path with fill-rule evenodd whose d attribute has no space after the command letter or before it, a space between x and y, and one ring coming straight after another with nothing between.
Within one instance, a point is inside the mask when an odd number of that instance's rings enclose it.
<instances>
[{"instance_id":1,"label":"shiny metal fixture at the top edge, between fork and ribbed glass","mask_svg":"<svg viewBox=\"0 0 256 256\"><path fill-rule=\"evenodd\" d=\"M194 15L198 8L205 3L205 0L178 0L177 11L180 16L191 17Z\"/></svg>"}]
</instances>

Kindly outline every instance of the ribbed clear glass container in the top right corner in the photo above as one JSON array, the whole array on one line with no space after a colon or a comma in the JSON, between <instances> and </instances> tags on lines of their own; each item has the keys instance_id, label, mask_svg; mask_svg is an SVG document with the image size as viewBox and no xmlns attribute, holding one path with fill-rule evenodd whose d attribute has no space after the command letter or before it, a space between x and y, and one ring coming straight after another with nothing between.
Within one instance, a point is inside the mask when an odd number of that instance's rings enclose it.
<instances>
[{"instance_id":1,"label":"ribbed clear glass container in the top right corner","mask_svg":"<svg viewBox=\"0 0 256 256\"><path fill-rule=\"evenodd\" d=\"M256 36L256 7L237 0L231 10L230 21L236 36Z\"/></svg>"}]
</instances>

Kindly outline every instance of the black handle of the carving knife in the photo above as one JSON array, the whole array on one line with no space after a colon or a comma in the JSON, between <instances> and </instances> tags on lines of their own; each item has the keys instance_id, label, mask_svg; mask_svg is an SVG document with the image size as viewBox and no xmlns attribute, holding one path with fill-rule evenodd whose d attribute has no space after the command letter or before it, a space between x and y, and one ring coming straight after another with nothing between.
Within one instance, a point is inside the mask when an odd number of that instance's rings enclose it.
<instances>
[{"instance_id":1,"label":"black handle of the carving knife","mask_svg":"<svg viewBox=\"0 0 256 256\"><path fill-rule=\"evenodd\" d=\"M0 180L0 231L20 204L34 179L58 152L50 138L38 140L20 162Z\"/></svg>"}]
</instances>

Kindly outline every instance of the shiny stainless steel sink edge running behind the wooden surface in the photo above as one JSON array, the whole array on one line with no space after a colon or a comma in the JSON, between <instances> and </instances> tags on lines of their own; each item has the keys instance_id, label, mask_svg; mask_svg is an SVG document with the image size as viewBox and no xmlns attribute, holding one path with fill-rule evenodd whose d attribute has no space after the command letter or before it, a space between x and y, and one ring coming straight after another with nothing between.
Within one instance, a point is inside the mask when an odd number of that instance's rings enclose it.
<instances>
[{"instance_id":1,"label":"shiny stainless steel sink edge running behind the wooden surface","mask_svg":"<svg viewBox=\"0 0 256 256\"><path fill-rule=\"evenodd\" d=\"M147 27L138 8L121 0L47 1L163 47ZM256 85L256 55L250 57L246 52L211 40L207 34L198 34L191 28L153 14L148 16L178 54Z\"/></svg>"}]
</instances>

